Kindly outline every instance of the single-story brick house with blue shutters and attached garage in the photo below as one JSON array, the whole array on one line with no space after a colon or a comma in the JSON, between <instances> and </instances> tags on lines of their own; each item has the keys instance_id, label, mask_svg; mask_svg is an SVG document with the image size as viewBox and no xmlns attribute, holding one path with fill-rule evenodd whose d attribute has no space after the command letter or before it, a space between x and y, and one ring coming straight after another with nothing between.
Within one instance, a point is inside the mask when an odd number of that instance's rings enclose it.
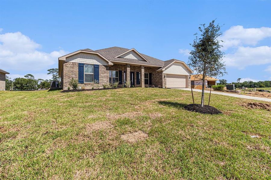
<instances>
[{"instance_id":1,"label":"single-story brick house with blue shutters and attached garage","mask_svg":"<svg viewBox=\"0 0 271 180\"><path fill-rule=\"evenodd\" d=\"M92 88L95 80L101 85L119 82L123 86L127 81L135 87L187 88L192 73L183 61L161 61L121 47L72 52L58 58L58 69L63 89L70 87L71 78L86 89Z\"/></svg>"}]
</instances>

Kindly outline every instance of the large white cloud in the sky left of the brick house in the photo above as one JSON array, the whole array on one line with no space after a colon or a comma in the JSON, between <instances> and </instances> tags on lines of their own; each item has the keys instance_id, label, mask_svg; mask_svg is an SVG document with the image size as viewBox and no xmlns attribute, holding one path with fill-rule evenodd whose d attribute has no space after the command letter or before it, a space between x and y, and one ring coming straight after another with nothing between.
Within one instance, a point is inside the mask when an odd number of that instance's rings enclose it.
<instances>
[{"instance_id":1,"label":"large white cloud in the sky left of the brick house","mask_svg":"<svg viewBox=\"0 0 271 180\"><path fill-rule=\"evenodd\" d=\"M42 70L68 53L62 49L51 53L39 51L42 46L21 32L0 34L0 43L0 66L7 70Z\"/></svg>"}]
</instances>

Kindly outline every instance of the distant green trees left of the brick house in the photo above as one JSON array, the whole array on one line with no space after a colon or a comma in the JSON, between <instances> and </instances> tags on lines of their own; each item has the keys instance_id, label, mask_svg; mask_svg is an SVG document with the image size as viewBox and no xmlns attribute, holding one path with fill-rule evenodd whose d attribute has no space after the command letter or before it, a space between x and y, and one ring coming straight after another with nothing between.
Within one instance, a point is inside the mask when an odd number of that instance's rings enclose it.
<instances>
[{"instance_id":1,"label":"distant green trees left of the brick house","mask_svg":"<svg viewBox=\"0 0 271 180\"><path fill-rule=\"evenodd\" d=\"M18 77L11 80L10 77L6 76L6 90L36 90L50 88L50 81L59 81L58 69L49 69L47 74L52 74L53 79L35 79L32 74L26 74L23 77Z\"/></svg>"}]
</instances>

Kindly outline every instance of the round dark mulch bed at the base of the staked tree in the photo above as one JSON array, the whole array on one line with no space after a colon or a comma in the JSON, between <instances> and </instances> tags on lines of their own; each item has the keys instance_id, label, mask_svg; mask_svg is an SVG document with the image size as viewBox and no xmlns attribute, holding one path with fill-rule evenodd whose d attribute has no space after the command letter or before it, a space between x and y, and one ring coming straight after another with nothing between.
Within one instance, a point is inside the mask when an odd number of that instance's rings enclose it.
<instances>
[{"instance_id":1,"label":"round dark mulch bed at the base of the staked tree","mask_svg":"<svg viewBox=\"0 0 271 180\"><path fill-rule=\"evenodd\" d=\"M201 104L188 104L184 108L188 111L194 111L202 114L222 114L222 112L217 110L215 107L208 105L204 105L204 107L201 107Z\"/></svg>"}]
</instances>

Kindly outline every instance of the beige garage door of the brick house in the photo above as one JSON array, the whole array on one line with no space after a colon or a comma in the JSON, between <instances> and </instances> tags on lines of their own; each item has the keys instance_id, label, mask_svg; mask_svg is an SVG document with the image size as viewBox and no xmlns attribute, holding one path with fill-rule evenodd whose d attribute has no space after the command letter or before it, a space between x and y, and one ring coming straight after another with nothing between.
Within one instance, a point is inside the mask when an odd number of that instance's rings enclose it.
<instances>
[{"instance_id":1,"label":"beige garage door of the brick house","mask_svg":"<svg viewBox=\"0 0 271 180\"><path fill-rule=\"evenodd\" d=\"M167 88L186 88L186 76L167 74Z\"/></svg>"}]
</instances>

